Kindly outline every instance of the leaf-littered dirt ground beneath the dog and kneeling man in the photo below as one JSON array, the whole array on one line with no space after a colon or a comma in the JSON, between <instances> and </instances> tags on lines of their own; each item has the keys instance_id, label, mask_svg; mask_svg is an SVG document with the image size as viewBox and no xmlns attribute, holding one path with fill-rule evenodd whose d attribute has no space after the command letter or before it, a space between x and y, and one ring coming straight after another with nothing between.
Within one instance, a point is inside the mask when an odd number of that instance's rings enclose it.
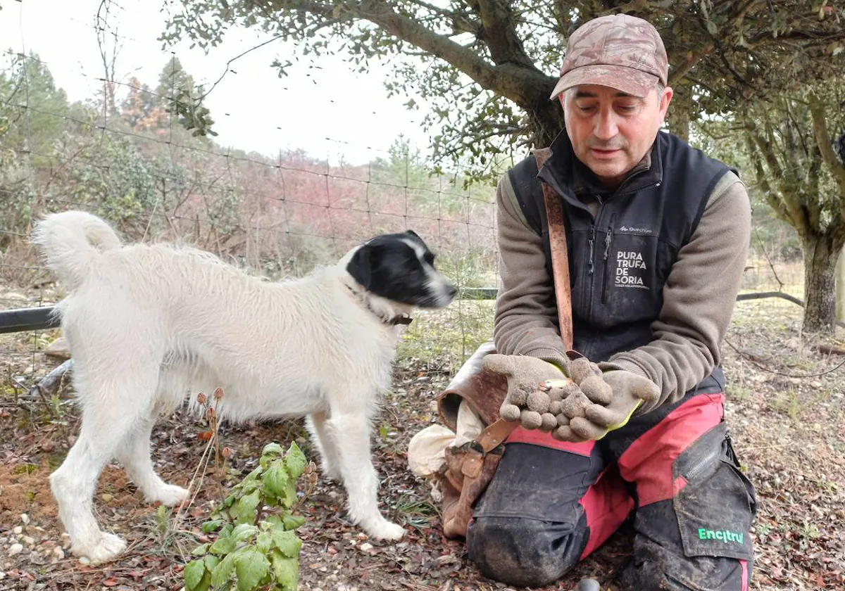
<instances>
[{"instance_id":1,"label":"leaf-littered dirt ground beneath the dog and kneeling man","mask_svg":"<svg viewBox=\"0 0 845 591\"><path fill-rule=\"evenodd\" d=\"M818 341L803 338L799 312L788 302L740 302L723 346L728 421L758 494L755 589L845 588L845 356L820 353ZM415 334L435 328L435 321L421 317ZM299 422L223 426L221 444L232 449L226 469L205 476L180 523L170 510L144 504L112 464L101 477L95 514L104 529L128 539L129 549L105 565L81 564L69 556L46 480L73 442L78 415L69 388L44 401L27 398L24 387L28 377L57 365L39 352L56 336L0 335L0 589L180 589L188 551L204 540L199 523L226 486L254 467L264 444L296 441L316 459ZM842 347L843 340L840 330L825 343ZM302 505L307 521L299 530L300 588L506 588L478 574L464 545L443 538L428 484L407 469L407 444L433 422L435 396L456 370L455 356L435 345L408 351L398 362L373 438L382 507L408 534L399 543L367 539L346 519L342 489L320 480ZM188 484L205 429L182 412L159 423L153 457L166 480ZM549 589L574 588L588 575L602 588L615 588L630 549L626 524Z\"/></svg>"}]
</instances>

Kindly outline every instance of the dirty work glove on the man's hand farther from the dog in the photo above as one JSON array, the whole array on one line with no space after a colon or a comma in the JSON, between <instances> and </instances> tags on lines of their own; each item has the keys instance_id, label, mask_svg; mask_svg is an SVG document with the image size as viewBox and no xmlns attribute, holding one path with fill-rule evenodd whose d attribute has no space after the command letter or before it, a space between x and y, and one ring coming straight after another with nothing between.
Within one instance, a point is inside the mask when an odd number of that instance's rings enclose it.
<instances>
[{"instance_id":1,"label":"dirty work glove on the man's hand farther from the dog","mask_svg":"<svg viewBox=\"0 0 845 591\"><path fill-rule=\"evenodd\" d=\"M660 388L632 371L612 369L601 377L581 382L581 393L591 404L567 414L570 419L567 428L583 440L597 441L609 431L627 425L643 402L657 400Z\"/></svg>"}]
</instances>

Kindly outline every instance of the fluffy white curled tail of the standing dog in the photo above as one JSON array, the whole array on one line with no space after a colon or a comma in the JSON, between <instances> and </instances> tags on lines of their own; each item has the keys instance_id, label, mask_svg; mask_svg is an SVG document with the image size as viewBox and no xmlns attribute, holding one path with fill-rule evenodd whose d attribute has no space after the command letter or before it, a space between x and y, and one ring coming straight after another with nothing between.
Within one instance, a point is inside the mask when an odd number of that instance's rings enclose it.
<instances>
[{"instance_id":1,"label":"fluffy white curled tail of the standing dog","mask_svg":"<svg viewBox=\"0 0 845 591\"><path fill-rule=\"evenodd\" d=\"M35 225L32 243L41 247L46 266L70 290L85 281L101 252L120 247L120 239L112 227L84 211L46 215Z\"/></svg>"}]
</instances>

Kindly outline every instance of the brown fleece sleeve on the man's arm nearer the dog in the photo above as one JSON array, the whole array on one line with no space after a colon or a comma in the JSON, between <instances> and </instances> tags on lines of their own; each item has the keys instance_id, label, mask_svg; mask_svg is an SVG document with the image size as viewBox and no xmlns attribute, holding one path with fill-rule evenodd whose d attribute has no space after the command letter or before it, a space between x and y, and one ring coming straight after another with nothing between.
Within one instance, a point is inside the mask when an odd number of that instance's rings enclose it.
<instances>
[{"instance_id":1,"label":"brown fleece sleeve on the man's arm nearer the dog","mask_svg":"<svg viewBox=\"0 0 845 591\"><path fill-rule=\"evenodd\" d=\"M499 296L493 344L503 355L529 355L564 367L552 279L546 271L542 237L516 205L510 179L496 189Z\"/></svg>"}]
</instances>

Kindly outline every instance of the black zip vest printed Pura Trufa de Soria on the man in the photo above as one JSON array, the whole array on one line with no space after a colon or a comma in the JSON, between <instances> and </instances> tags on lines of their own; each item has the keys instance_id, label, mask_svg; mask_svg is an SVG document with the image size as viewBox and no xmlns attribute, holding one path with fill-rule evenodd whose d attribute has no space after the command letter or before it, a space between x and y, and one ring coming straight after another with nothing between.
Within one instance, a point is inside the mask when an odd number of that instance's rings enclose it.
<instances>
[{"instance_id":1,"label":"black zip vest printed Pura Trufa de Soria on the man","mask_svg":"<svg viewBox=\"0 0 845 591\"><path fill-rule=\"evenodd\" d=\"M573 348L591 361L652 340L651 323L662 307L662 288L678 252L693 235L713 187L728 167L669 133L658 133L651 167L627 178L602 201L595 217L575 197L570 171L575 155L562 132L537 172L529 156L509 172L528 223L542 235L551 277L542 183L563 201L572 285ZM715 380L715 382L714 382ZM695 391L721 391L722 370Z\"/></svg>"}]
</instances>

